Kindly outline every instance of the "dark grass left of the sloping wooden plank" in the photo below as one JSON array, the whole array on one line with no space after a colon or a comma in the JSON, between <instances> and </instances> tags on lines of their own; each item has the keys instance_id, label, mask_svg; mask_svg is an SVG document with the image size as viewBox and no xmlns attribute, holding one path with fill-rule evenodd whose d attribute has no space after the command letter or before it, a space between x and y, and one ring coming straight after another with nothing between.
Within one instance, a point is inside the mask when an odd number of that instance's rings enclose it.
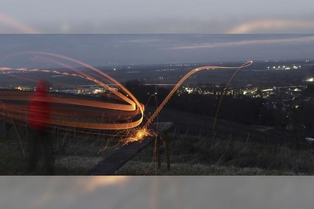
<instances>
[{"instance_id":1,"label":"dark grass left of the sloping wooden plank","mask_svg":"<svg viewBox=\"0 0 314 209\"><path fill-rule=\"evenodd\" d=\"M43 153L38 156L39 162L33 173L27 173L28 150L25 139L22 139L26 156L23 152L16 132L10 130L8 137L0 138L0 175L46 175L44 173ZM66 144L66 146L64 146ZM104 143L91 140L56 139L54 143L56 175L82 175L95 166L115 148L108 148L99 152Z\"/></svg>"}]
</instances>

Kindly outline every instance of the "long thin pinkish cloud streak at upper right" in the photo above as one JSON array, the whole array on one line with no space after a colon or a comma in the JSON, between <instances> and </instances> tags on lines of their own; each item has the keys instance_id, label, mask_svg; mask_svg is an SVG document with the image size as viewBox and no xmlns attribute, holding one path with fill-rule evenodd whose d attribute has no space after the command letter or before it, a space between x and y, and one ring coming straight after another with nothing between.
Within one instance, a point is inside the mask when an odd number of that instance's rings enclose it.
<instances>
[{"instance_id":1,"label":"long thin pinkish cloud streak at upper right","mask_svg":"<svg viewBox=\"0 0 314 209\"><path fill-rule=\"evenodd\" d=\"M266 44L300 44L314 42L314 36L305 36L297 38L281 38L281 39L262 39L262 40L243 40L234 42L221 43L203 43L192 44L186 46L175 46L171 49L197 49L197 48L213 48L213 47L230 47L230 46L246 46L246 45L266 45Z\"/></svg>"}]
</instances>

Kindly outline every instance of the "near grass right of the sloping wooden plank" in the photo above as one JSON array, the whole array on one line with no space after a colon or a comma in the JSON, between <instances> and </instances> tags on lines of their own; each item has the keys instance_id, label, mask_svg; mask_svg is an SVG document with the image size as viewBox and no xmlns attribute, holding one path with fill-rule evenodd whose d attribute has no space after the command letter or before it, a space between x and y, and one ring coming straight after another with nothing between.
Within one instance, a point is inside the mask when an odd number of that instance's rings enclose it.
<instances>
[{"instance_id":1,"label":"near grass right of the sloping wooden plank","mask_svg":"<svg viewBox=\"0 0 314 209\"><path fill-rule=\"evenodd\" d=\"M117 175L313 175L314 151L262 145L225 136L208 138L177 135L170 139L171 170L155 170L154 147L149 146L121 167ZM165 162L164 148L160 149Z\"/></svg>"}]
</instances>

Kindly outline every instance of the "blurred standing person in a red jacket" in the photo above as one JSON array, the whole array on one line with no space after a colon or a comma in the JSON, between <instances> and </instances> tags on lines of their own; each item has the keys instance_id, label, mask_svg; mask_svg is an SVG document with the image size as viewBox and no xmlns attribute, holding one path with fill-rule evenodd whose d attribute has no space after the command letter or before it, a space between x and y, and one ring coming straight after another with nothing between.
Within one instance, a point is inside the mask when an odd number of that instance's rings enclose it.
<instances>
[{"instance_id":1,"label":"blurred standing person in a red jacket","mask_svg":"<svg viewBox=\"0 0 314 209\"><path fill-rule=\"evenodd\" d=\"M27 119L30 128L29 173L35 171L39 156L44 157L45 173L53 174L54 172L53 142L48 125L51 119L51 107L49 100L45 99L49 98L48 86L46 81L39 81L28 106Z\"/></svg>"}]
</instances>

